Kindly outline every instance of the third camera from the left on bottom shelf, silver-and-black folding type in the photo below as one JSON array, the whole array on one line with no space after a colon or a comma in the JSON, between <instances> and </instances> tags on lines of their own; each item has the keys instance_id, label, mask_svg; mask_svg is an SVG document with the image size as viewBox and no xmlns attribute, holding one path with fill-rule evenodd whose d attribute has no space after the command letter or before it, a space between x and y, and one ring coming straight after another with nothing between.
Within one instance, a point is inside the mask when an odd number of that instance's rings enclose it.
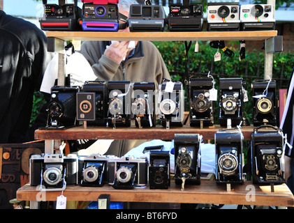
<instances>
[{"instance_id":1,"label":"third camera from the left on bottom shelf, silver-and-black folding type","mask_svg":"<svg viewBox=\"0 0 294 223\"><path fill-rule=\"evenodd\" d=\"M108 160L108 180L115 189L133 189L147 185L147 157L110 157Z\"/></svg>"}]
</instances>

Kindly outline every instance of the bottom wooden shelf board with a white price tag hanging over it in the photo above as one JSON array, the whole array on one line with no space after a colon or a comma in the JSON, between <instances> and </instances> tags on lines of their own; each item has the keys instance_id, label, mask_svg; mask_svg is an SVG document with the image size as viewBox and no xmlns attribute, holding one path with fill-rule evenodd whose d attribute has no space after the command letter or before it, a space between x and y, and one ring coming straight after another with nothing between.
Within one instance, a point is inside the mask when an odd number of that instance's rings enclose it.
<instances>
[{"instance_id":1,"label":"bottom wooden shelf board with a white price tag hanging over it","mask_svg":"<svg viewBox=\"0 0 294 223\"><path fill-rule=\"evenodd\" d=\"M36 187L24 185L17 190L16 199L36 201L38 193L40 191L36 190ZM184 191L181 191L181 186L175 185L172 180L168 190L150 190L149 187L116 190L109 185L103 187L76 185L66 187L63 192L67 201L97 201L100 194L110 194L110 201L294 206L293 194L285 184L274 185L274 192L271 192L270 185L253 185L251 181L245 182L244 185L232 185L229 192L226 191L226 185L217 185L210 180L202 180L201 185L185 185ZM56 201L59 195L61 192L46 192L46 200Z\"/></svg>"}]
</instances>

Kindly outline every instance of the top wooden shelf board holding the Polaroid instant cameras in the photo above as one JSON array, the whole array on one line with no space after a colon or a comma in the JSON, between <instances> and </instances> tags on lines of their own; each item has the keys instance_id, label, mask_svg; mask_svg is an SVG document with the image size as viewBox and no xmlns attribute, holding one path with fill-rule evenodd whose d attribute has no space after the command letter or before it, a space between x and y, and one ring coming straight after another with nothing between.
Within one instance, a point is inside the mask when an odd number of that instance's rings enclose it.
<instances>
[{"instance_id":1,"label":"top wooden shelf board holding the Polaroid instant cameras","mask_svg":"<svg viewBox=\"0 0 294 223\"><path fill-rule=\"evenodd\" d=\"M47 37L61 40L149 40L149 41L212 41L212 40L267 40L277 36L270 31L200 31L200 32L93 32L46 31Z\"/></svg>"}]
</instances>

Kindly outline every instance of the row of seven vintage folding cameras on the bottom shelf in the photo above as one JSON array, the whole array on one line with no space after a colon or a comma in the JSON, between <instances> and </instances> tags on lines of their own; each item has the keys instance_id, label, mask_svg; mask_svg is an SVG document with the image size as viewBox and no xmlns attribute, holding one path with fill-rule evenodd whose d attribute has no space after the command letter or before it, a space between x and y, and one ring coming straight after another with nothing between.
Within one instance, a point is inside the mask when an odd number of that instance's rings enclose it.
<instances>
[{"instance_id":1,"label":"row of seven vintage folding cameras on the bottom shelf","mask_svg":"<svg viewBox=\"0 0 294 223\"><path fill-rule=\"evenodd\" d=\"M271 129L271 130L269 130ZM214 134L216 183L242 184L243 134L238 128L219 130ZM200 134L175 134L175 175L177 185L200 185ZM251 134L251 174L254 184L285 183L281 170L281 156L285 137L279 128L262 125ZM203 153L204 151L202 151ZM104 184L115 189L168 189L170 186L170 151L150 151L147 157L113 155L77 156L63 154L32 155L30 184L41 185L43 190L64 190L66 185L100 187ZM45 188L44 188L45 187Z\"/></svg>"}]
</instances>

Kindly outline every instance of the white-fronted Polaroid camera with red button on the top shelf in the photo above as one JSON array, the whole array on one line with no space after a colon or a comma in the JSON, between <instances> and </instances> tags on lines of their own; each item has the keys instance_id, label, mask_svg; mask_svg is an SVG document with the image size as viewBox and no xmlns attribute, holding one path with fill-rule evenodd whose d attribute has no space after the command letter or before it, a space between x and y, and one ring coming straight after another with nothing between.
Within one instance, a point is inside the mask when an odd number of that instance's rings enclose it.
<instances>
[{"instance_id":1,"label":"white-fronted Polaroid camera with red button on the top shelf","mask_svg":"<svg viewBox=\"0 0 294 223\"><path fill-rule=\"evenodd\" d=\"M207 0L207 31L239 31L239 1Z\"/></svg>"}]
</instances>

